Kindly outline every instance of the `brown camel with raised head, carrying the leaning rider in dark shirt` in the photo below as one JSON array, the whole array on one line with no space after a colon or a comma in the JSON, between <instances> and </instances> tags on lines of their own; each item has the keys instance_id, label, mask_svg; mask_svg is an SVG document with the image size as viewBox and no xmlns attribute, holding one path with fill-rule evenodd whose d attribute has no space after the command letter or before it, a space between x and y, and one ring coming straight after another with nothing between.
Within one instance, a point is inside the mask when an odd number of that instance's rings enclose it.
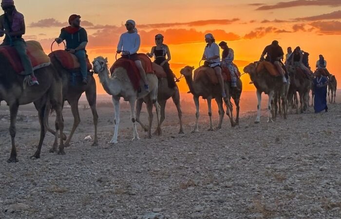
<instances>
[{"instance_id":1,"label":"brown camel with raised head, carrying the leaning rider in dark shirt","mask_svg":"<svg viewBox=\"0 0 341 219\"><path fill-rule=\"evenodd\" d=\"M250 75L250 78L257 89L257 117L255 123L261 122L261 101L262 101L262 93L268 95L268 103L267 103L267 122L273 122L274 111L272 110L271 101L275 93L279 93L282 99L282 109L284 110L283 116L286 119L286 92L288 89L288 83L283 83L282 77L275 77L270 75L266 70L262 70L260 73L257 73L257 66L259 62L250 63L244 68L244 72Z\"/></svg>"}]
</instances>

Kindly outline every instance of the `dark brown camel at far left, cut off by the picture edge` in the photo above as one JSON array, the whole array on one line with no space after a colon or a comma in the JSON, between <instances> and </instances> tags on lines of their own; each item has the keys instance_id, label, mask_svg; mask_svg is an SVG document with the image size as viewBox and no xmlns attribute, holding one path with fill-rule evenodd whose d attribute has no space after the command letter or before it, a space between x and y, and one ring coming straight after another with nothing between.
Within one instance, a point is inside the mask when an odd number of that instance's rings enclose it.
<instances>
[{"instance_id":1,"label":"dark brown camel at far left, cut off by the picture edge","mask_svg":"<svg viewBox=\"0 0 341 219\"><path fill-rule=\"evenodd\" d=\"M38 148L34 158L40 158L41 146L46 134L44 121L48 118L47 105L51 104L52 109L56 110L56 130L60 131L60 136L63 133L62 121L62 85L61 77L51 64L47 67L36 70L35 75L39 81L39 85L23 88L24 77L18 75L6 56L0 54L0 101L4 100L10 108L10 135L12 140L12 150L8 163L16 163L17 148L15 145L16 136L16 119L19 105L34 103L38 110L40 123L40 139ZM65 154L63 140L60 138L58 154Z\"/></svg>"}]
</instances>

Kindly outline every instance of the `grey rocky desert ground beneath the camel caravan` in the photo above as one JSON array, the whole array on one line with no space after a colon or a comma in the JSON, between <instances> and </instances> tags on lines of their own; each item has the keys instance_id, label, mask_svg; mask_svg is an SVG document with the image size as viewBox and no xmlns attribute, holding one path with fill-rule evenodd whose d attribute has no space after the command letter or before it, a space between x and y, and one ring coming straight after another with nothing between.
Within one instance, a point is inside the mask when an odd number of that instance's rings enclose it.
<instances>
[{"instance_id":1,"label":"grey rocky desert ground beneath the camel caravan","mask_svg":"<svg viewBox=\"0 0 341 219\"><path fill-rule=\"evenodd\" d=\"M185 113L185 134L177 134L177 114L171 111L163 136L147 139L139 128L141 140L134 142L125 110L117 145L108 144L112 109L102 108L97 147L84 140L93 137L91 112L80 110L82 123L67 154L48 152L53 144L48 134L38 160L29 158L38 143L36 112L27 110L17 126L17 164L6 163L9 123L2 109L0 218L341 218L341 105L329 108L274 123L263 116L261 124L253 123L252 112L237 128L225 118L216 131L207 131L205 113L199 133L191 133L194 113ZM70 109L64 119L68 133Z\"/></svg>"}]
</instances>

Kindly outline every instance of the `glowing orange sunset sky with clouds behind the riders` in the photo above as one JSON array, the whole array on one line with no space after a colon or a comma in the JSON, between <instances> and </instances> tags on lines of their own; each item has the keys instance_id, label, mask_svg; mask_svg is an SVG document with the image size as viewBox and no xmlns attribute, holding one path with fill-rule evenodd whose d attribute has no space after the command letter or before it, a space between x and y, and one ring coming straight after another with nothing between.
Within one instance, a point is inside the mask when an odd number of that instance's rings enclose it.
<instances>
[{"instance_id":1,"label":"glowing orange sunset sky with clouds behind the riders","mask_svg":"<svg viewBox=\"0 0 341 219\"><path fill-rule=\"evenodd\" d=\"M107 56L110 64L118 38L127 19L136 21L141 36L140 52L149 52L154 36L161 33L170 47L171 67L177 76L186 66L198 67L204 51L204 35L212 33L217 42L225 40L234 50L235 63L242 70L258 60L264 47L277 39L286 48L301 46L309 64L315 67L318 55L341 80L341 0L15 0L26 22L26 40L36 39L45 51L67 25L71 14L81 15L81 26L89 35L90 60ZM56 46L55 49L58 49ZM97 76L95 76L97 78ZM253 90L247 75L245 90ZM339 83L339 86L341 83ZM99 93L104 93L97 86ZM180 90L188 91L185 81Z\"/></svg>"}]
</instances>

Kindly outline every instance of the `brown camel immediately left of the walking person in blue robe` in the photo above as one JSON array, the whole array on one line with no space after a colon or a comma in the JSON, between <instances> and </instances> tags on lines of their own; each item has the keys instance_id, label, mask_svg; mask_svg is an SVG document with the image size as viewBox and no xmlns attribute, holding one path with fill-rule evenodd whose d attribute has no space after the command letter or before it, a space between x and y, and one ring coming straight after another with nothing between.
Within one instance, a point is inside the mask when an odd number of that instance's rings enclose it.
<instances>
[{"instance_id":1,"label":"brown camel immediately left of the walking person in blue robe","mask_svg":"<svg viewBox=\"0 0 341 219\"><path fill-rule=\"evenodd\" d=\"M287 97L289 105L291 105L290 100L293 98L296 101L297 97L295 98L294 95L298 92L300 96L300 110L301 113L303 113L308 110L309 107L309 93L312 85L312 77L308 78L300 68L295 68L293 66L288 67L288 72L290 74L290 87ZM298 104L296 107L296 113L298 113Z\"/></svg>"}]
</instances>

